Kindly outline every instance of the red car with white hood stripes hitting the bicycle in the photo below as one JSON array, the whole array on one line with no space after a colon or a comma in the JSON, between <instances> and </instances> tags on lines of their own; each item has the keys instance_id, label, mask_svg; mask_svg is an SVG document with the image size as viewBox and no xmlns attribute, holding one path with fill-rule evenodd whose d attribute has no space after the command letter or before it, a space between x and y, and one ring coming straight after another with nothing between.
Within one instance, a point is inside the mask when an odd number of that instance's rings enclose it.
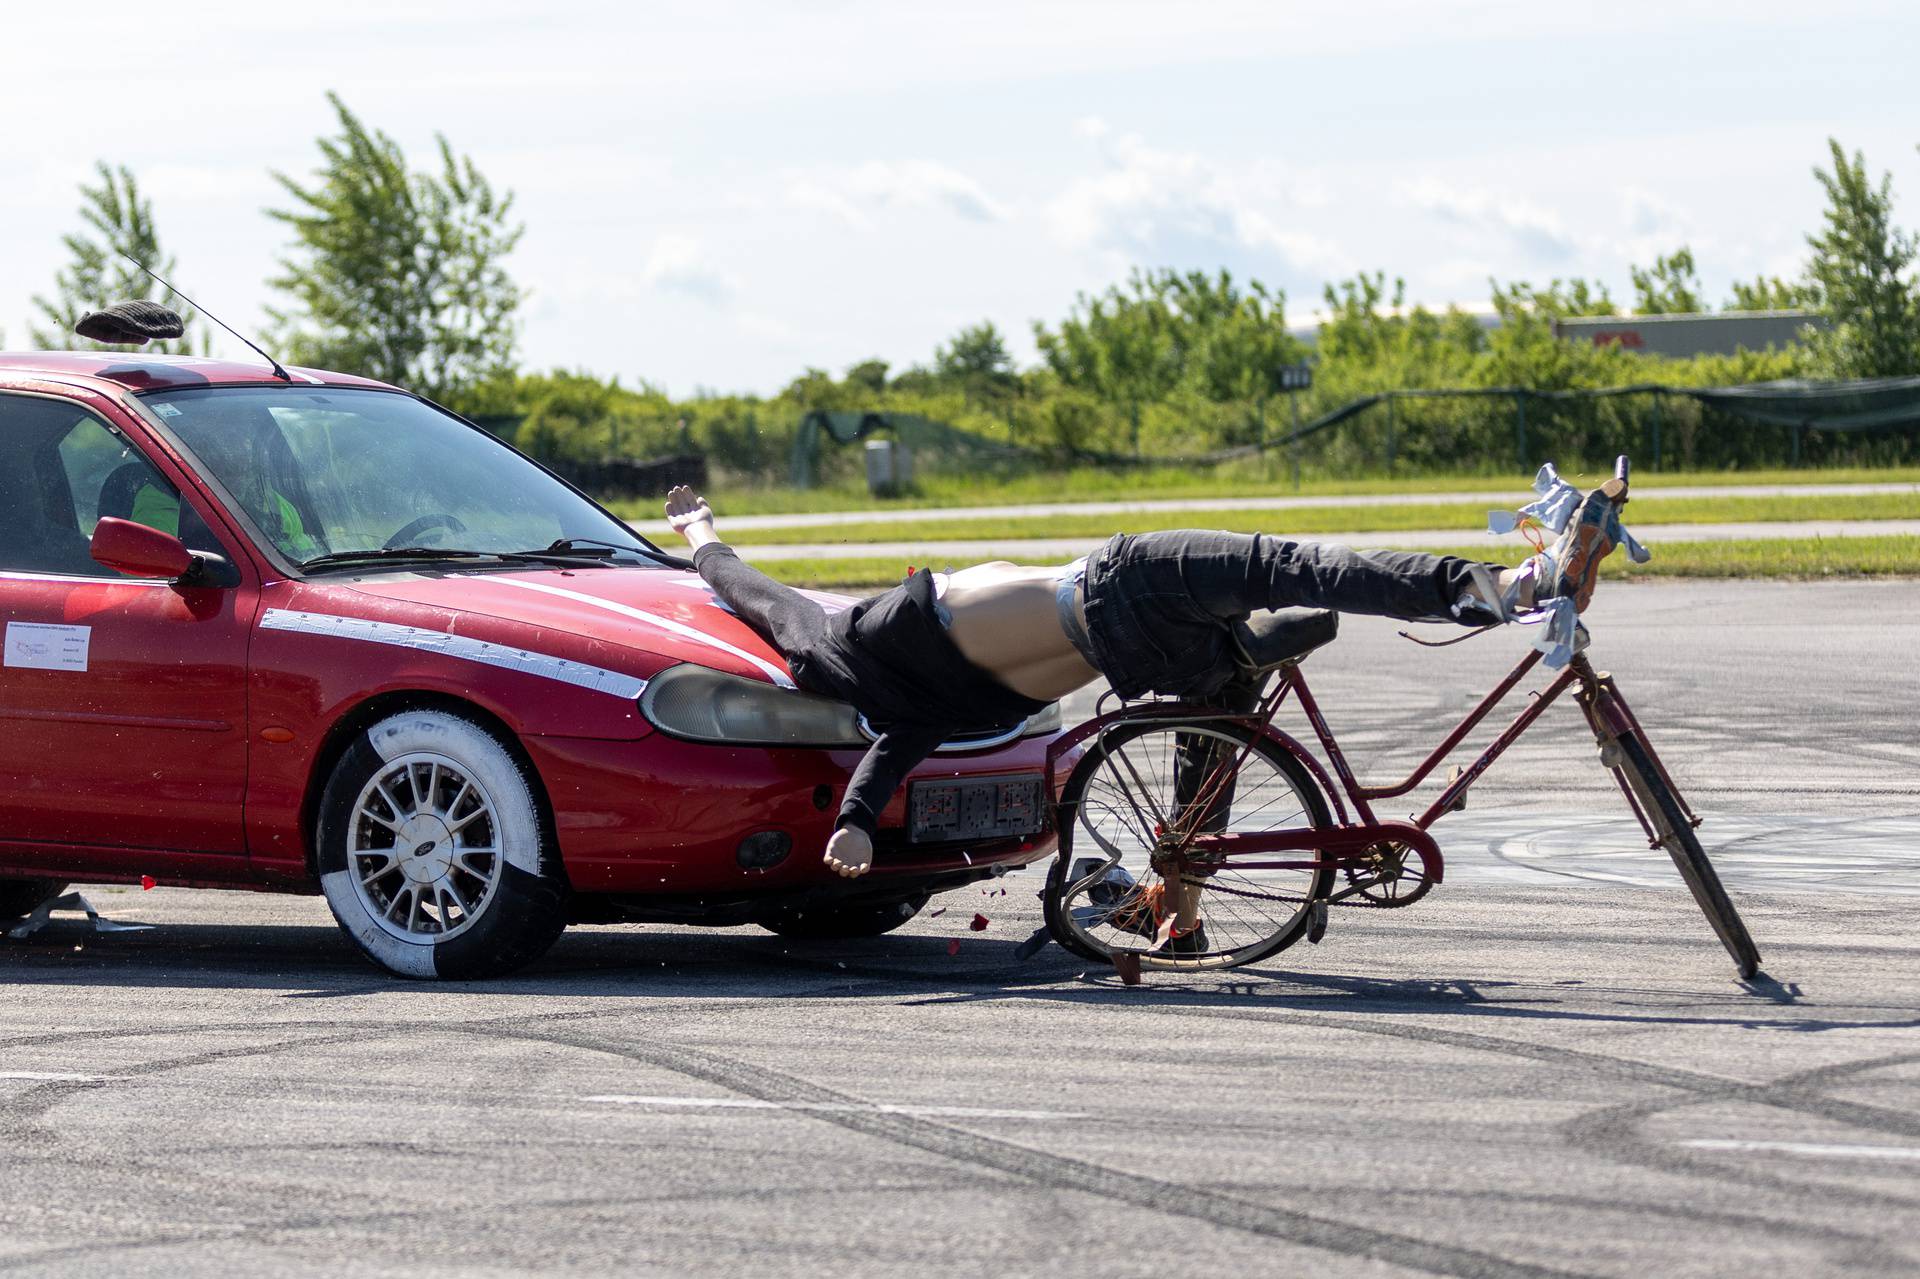
<instances>
[{"instance_id":1,"label":"red car with white hood stripes hitting the bicycle","mask_svg":"<svg viewBox=\"0 0 1920 1279\"><path fill-rule=\"evenodd\" d=\"M288 376L0 355L0 920L65 880L319 891L376 964L482 977L584 920L876 935L1052 853L1058 707L828 874L851 707L492 434Z\"/></svg>"}]
</instances>

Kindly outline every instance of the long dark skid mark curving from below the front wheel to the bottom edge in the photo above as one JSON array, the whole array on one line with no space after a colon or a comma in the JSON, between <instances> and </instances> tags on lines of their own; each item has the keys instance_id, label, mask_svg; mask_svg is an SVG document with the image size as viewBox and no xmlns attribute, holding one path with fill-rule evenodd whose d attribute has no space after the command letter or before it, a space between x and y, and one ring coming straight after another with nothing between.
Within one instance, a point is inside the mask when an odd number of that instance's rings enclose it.
<instances>
[{"instance_id":1,"label":"long dark skid mark curving from below the front wheel to the bottom edge","mask_svg":"<svg viewBox=\"0 0 1920 1279\"><path fill-rule=\"evenodd\" d=\"M472 1029L472 1027L455 1027ZM513 1033L516 1039L559 1043L588 1052L605 1052L641 1062L657 1070L682 1074L703 1083L774 1102L858 1102L847 1093L835 1093L797 1075L751 1066L699 1049L680 1049L662 1043L622 1043L580 1033L540 1031ZM1196 1191L1175 1181L1127 1173L1064 1154L1046 1154L996 1137L983 1137L958 1127L912 1116L858 1110L797 1112L806 1120L845 1127L866 1137L925 1150L954 1160L966 1168L993 1168L1052 1191L1079 1191L1100 1198L1133 1204L1175 1218L1204 1221L1225 1229L1304 1244L1340 1256L1390 1262L1436 1275L1475 1279L1544 1279L1567 1277L1578 1271L1551 1269L1509 1262L1507 1258L1471 1248L1455 1248L1411 1235L1394 1235L1365 1225L1319 1218L1290 1208L1273 1208L1252 1200Z\"/></svg>"}]
</instances>

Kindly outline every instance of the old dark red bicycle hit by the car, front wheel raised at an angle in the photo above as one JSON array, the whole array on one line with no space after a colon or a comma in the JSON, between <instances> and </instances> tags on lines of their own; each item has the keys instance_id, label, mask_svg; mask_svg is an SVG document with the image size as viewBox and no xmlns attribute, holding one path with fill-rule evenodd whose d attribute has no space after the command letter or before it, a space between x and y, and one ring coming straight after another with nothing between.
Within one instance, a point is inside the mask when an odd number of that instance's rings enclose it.
<instances>
[{"instance_id":1,"label":"old dark red bicycle hit by the car, front wheel raised at an angle","mask_svg":"<svg viewBox=\"0 0 1920 1279\"><path fill-rule=\"evenodd\" d=\"M1626 459L1617 467L1626 501ZM1400 908L1427 897L1446 868L1428 828L1465 807L1469 787L1569 689L1574 691L1647 845L1667 849L1741 979L1761 956L1695 837L1701 818L1613 676L1584 651L1480 755L1448 776L1413 820L1380 820L1375 801L1419 787L1542 661L1530 651L1402 782L1361 785L1308 688L1302 661L1338 634L1338 615L1281 609L1233 626L1240 678L1219 705L1140 701L1102 711L1048 751L1060 851L1043 903L1046 928L1068 951L1139 968L1212 970L1267 958L1302 937L1319 941L1327 908ZM1273 726L1294 699L1332 772ZM1056 787L1058 762L1081 753ZM1352 810L1348 808L1352 805ZM1085 835L1098 855L1079 857ZM1336 887L1338 883L1338 887ZM1200 914L1200 901L1206 914ZM1135 968L1139 966L1139 968Z\"/></svg>"}]
</instances>

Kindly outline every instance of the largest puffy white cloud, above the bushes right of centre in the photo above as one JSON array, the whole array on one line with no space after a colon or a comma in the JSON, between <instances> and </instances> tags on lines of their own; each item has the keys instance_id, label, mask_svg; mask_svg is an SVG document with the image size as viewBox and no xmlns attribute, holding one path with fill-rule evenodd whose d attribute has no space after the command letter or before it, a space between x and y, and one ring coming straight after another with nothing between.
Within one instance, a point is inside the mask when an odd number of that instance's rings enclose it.
<instances>
[{"instance_id":1,"label":"largest puffy white cloud, above the bushes right of centre","mask_svg":"<svg viewBox=\"0 0 1920 1279\"><path fill-rule=\"evenodd\" d=\"M1350 269L1340 246L1302 230L1294 211L1325 204L1317 179L1271 163L1221 167L1196 152L1116 134L1100 117L1073 131L1098 144L1100 173L1068 184L1048 205L1054 238L1144 265L1217 267L1225 259L1281 265L1315 280Z\"/></svg>"}]
</instances>

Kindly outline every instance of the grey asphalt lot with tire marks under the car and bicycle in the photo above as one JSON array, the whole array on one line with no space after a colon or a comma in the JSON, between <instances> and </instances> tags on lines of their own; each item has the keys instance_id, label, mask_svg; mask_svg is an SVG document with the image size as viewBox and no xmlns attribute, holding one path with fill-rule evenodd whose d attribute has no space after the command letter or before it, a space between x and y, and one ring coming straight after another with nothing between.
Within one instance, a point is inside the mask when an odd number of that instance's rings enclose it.
<instances>
[{"instance_id":1,"label":"grey asphalt lot with tire marks under the car and bicycle","mask_svg":"<svg viewBox=\"0 0 1920 1279\"><path fill-rule=\"evenodd\" d=\"M1018 960L1029 876L876 941L582 928L445 987L317 899L88 889L152 931L0 943L0 1271L1914 1273L1920 584L1588 618L1759 981L1571 709L1442 820L1425 903L1140 987ZM1384 778L1524 641L1350 620L1308 670Z\"/></svg>"}]
</instances>

